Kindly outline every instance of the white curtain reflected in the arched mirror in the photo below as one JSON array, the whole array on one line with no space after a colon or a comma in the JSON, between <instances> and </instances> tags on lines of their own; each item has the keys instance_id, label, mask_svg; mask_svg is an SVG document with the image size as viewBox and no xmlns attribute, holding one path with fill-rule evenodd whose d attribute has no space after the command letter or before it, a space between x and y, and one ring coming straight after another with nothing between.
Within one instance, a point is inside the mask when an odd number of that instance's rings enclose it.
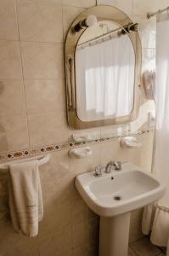
<instances>
[{"instance_id":1,"label":"white curtain reflected in the arched mirror","mask_svg":"<svg viewBox=\"0 0 169 256\"><path fill-rule=\"evenodd\" d=\"M128 35L76 48L76 106L83 121L132 112L135 53Z\"/></svg>"}]
</instances>

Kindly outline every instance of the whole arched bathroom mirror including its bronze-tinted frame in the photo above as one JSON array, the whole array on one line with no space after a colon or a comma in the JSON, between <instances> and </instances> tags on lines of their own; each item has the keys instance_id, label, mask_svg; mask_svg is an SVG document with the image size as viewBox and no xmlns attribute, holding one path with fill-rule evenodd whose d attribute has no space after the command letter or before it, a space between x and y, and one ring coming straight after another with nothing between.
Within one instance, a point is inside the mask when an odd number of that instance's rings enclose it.
<instances>
[{"instance_id":1,"label":"whole arched bathroom mirror including its bronze-tinted frame","mask_svg":"<svg viewBox=\"0 0 169 256\"><path fill-rule=\"evenodd\" d=\"M137 24L110 6L84 11L65 40L69 125L84 129L136 119L140 69Z\"/></svg>"}]
</instances>

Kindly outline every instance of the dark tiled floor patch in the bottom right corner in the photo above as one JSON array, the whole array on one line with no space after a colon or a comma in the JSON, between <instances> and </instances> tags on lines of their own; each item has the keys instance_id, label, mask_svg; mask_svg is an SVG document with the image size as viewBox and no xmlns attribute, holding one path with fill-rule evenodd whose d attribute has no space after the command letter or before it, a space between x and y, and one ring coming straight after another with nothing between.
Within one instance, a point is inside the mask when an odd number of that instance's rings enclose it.
<instances>
[{"instance_id":1,"label":"dark tiled floor patch in the bottom right corner","mask_svg":"<svg viewBox=\"0 0 169 256\"><path fill-rule=\"evenodd\" d=\"M128 256L165 256L163 250L150 243L147 237L129 244Z\"/></svg>"}]
</instances>

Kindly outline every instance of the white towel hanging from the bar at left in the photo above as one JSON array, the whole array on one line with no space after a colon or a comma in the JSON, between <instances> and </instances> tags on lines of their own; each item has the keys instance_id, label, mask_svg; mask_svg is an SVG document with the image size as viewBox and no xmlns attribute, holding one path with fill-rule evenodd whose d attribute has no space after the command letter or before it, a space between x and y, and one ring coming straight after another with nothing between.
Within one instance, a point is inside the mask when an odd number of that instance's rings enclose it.
<instances>
[{"instance_id":1,"label":"white towel hanging from the bar at left","mask_svg":"<svg viewBox=\"0 0 169 256\"><path fill-rule=\"evenodd\" d=\"M37 236L38 222L43 218L37 160L9 166L8 195L14 230L21 230L25 236Z\"/></svg>"}]
</instances>

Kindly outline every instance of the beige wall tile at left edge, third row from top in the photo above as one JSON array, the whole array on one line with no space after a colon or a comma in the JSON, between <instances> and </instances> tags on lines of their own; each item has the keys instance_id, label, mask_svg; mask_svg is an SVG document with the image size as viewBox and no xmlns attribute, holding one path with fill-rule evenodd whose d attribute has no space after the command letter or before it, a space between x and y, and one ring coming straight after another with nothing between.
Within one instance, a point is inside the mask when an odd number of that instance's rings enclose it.
<instances>
[{"instance_id":1,"label":"beige wall tile at left edge, third row from top","mask_svg":"<svg viewBox=\"0 0 169 256\"><path fill-rule=\"evenodd\" d=\"M25 114L24 84L21 80L0 81L0 116Z\"/></svg>"}]
</instances>

